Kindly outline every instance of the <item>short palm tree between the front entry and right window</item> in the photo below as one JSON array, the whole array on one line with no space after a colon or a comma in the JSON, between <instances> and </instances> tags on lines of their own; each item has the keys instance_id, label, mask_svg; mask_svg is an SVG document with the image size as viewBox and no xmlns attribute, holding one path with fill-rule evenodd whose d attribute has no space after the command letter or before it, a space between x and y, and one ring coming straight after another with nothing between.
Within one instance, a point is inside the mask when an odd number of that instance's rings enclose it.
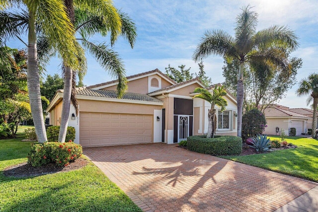
<instances>
[{"instance_id":1,"label":"short palm tree between the front entry and right window","mask_svg":"<svg viewBox=\"0 0 318 212\"><path fill-rule=\"evenodd\" d=\"M203 88L196 88L193 91L194 93L199 93L195 95L193 98L201 98L211 104L211 109L209 109L208 118L209 118L209 125L208 125L208 133L207 138L214 137L215 129L216 129L216 109L214 108L215 105L221 107L221 112L225 110L225 107L228 105L227 101L223 98L227 95L227 92L224 89L224 86L216 85L213 89L213 95L206 89Z\"/></svg>"}]
</instances>

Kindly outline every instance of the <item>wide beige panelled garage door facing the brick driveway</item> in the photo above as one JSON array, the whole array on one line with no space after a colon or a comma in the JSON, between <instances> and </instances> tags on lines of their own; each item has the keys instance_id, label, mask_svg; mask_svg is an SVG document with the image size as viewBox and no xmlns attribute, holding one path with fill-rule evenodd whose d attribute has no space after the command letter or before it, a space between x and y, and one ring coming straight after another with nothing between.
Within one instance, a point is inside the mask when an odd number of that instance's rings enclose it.
<instances>
[{"instance_id":1,"label":"wide beige panelled garage door facing the brick driveway","mask_svg":"<svg viewBox=\"0 0 318 212\"><path fill-rule=\"evenodd\" d=\"M79 113L79 143L82 146L111 146L151 143L152 115Z\"/></svg>"}]
</instances>

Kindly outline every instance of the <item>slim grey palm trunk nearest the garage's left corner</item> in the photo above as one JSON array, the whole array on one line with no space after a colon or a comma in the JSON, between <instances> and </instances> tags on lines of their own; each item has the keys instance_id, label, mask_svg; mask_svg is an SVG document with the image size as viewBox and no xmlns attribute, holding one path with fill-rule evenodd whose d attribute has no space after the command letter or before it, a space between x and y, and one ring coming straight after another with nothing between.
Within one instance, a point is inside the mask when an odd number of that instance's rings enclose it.
<instances>
[{"instance_id":1,"label":"slim grey palm trunk nearest the garage's left corner","mask_svg":"<svg viewBox=\"0 0 318 212\"><path fill-rule=\"evenodd\" d=\"M59 132L59 142L62 142L62 143L65 142L66 132L67 132L68 124L69 124L71 93L72 93L72 78L73 78L72 69L70 67L65 67L61 126L60 126L60 132Z\"/></svg>"}]
</instances>

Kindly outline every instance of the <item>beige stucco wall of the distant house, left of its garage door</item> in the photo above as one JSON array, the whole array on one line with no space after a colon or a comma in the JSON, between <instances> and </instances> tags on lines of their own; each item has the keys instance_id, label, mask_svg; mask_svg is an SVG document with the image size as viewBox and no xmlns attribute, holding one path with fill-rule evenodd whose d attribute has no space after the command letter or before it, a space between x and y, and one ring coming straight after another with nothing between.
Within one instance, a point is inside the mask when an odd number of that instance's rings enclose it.
<instances>
[{"instance_id":1,"label":"beige stucco wall of the distant house, left of its garage door","mask_svg":"<svg viewBox=\"0 0 318 212\"><path fill-rule=\"evenodd\" d=\"M285 130L285 134L289 134L289 118L282 118L282 117L277 117L277 118L270 118L267 117L267 127L265 128L265 131L263 132L264 134L267 135L276 135L276 127L279 127L279 132L277 135L280 134L281 129Z\"/></svg>"}]
</instances>

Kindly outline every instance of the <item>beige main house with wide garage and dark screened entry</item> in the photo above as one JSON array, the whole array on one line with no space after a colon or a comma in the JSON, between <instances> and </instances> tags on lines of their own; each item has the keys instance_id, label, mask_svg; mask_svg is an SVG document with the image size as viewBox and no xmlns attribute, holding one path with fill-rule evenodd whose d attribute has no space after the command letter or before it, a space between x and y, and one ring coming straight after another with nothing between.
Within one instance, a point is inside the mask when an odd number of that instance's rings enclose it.
<instances>
[{"instance_id":1,"label":"beige main house with wide garage and dark screened entry","mask_svg":"<svg viewBox=\"0 0 318 212\"><path fill-rule=\"evenodd\" d=\"M200 80L176 83L156 69L127 77L127 81L122 99L116 95L116 80L77 88L79 116L72 106L69 120L69 126L76 128L76 143L84 147L171 144L207 133L211 105L192 99L195 88L204 88ZM230 94L225 99L228 106L222 113L218 111L216 134L237 135L237 101ZM50 124L60 125L62 101L63 90L58 90L47 108Z\"/></svg>"}]
</instances>

